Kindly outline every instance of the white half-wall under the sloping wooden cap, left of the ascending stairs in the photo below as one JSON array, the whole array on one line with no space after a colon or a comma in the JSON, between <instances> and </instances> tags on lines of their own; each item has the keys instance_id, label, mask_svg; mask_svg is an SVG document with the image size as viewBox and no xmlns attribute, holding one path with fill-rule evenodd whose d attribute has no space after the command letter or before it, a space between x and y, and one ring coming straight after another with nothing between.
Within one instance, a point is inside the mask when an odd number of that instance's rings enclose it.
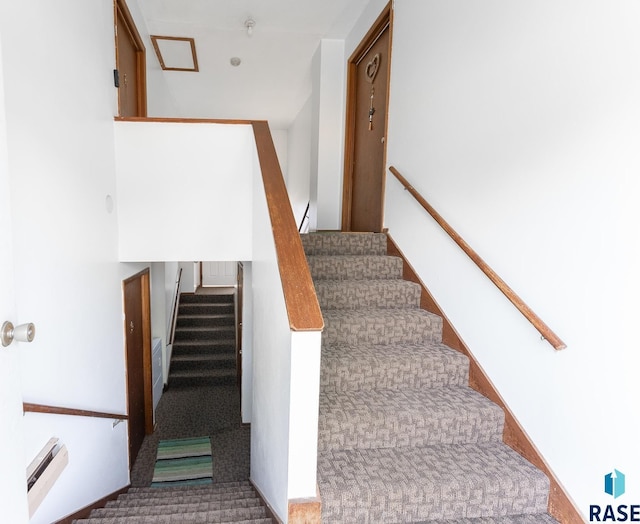
<instances>
[{"instance_id":1,"label":"white half-wall under the sloping wooden cap, left of the ascending stairs","mask_svg":"<svg viewBox=\"0 0 640 524\"><path fill-rule=\"evenodd\" d=\"M320 333L292 332L257 155L254 171L251 478L283 522L316 496Z\"/></svg>"}]
</instances>

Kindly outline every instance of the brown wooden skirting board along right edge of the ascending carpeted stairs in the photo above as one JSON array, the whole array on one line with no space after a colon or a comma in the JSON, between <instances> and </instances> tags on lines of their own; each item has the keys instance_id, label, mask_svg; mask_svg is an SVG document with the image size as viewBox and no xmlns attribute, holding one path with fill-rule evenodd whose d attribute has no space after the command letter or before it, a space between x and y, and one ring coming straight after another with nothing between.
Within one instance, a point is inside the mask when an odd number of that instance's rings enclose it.
<instances>
[{"instance_id":1,"label":"brown wooden skirting board along right edge of the ascending carpeted stairs","mask_svg":"<svg viewBox=\"0 0 640 524\"><path fill-rule=\"evenodd\" d=\"M460 335L455 330L447 316L436 302L431 292L424 285L415 272L409 261L406 259L402 251L398 248L391 236L387 235L387 253L397 256L403 260L403 278L411 282L420 284L422 294L420 298L420 307L442 317L442 342L456 351L460 351L469 357L469 386L481 393L491 401L500 406L505 414L503 441L509 447L520 453L529 462L539 468L547 475L550 481L549 504L548 511L551 516L562 524L581 524L584 522L575 503L566 493L558 479L556 478L549 465L531 442L514 414L506 405L504 399L498 393L487 374L484 372L478 361L475 359L467 345L464 343Z\"/></svg>"}]
</instances>

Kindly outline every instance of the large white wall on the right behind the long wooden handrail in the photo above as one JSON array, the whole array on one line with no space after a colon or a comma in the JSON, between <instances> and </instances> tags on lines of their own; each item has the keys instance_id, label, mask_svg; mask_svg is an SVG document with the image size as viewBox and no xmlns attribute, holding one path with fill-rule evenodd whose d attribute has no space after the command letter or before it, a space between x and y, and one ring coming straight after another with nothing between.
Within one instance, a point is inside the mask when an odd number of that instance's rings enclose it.
<instances>
[{"instance_id":1,"label":"large white wall on the right behind the long wooden handrail","mask_svg":"<svg viewBox=\"0 0 640 524\"><path fill-rule=\"evenodd\" d=\"M640 500L638 20L631 0L396 1L388 163L568 348L392 177L385 226L585 514L613 468Z\"/></svg>"}]
</instances>

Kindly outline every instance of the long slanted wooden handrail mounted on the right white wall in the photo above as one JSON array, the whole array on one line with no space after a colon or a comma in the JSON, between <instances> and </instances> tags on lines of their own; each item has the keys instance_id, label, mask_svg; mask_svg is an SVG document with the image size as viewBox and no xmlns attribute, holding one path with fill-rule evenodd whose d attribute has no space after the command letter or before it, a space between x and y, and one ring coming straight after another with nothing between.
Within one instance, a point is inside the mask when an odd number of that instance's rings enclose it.
<instances>
[{"instance_id":1,"label":"long slanted wooden handrail mounted on the right white wall","mask_svg":"<svg viewBox=\"0 0 640 524\"><path fill-rule=\"evenodd\" d=\"M525 304L525 302L516 294L513 289L511 289L504 280L502 280L498 274L489 267L489 265L480 258L480 255L476 253L469 244L465 242L465 240L453 229L447 221L440 216L440 214L422 197L416 189L407 182L407 179L404 178L398 170L391 166L389 167L389 171L393 173L393 175L400 181L400 183L405 187L411 195L420 203L420 205L429 213L434 220L446 231L446 233L451 237L451 239L460 246L460 248L469 256L471 260L480 268L480 270L489 277L489 280L493 282L500 291L511 301L511 303L522 313L525 318L533 324L540 334L542 338L544 338L549 344L551 344L555 349L564 349L567 345L556 335L547 324L543 322L543 320L536 315L533 310Z\"/></svg>"}]
</instances>

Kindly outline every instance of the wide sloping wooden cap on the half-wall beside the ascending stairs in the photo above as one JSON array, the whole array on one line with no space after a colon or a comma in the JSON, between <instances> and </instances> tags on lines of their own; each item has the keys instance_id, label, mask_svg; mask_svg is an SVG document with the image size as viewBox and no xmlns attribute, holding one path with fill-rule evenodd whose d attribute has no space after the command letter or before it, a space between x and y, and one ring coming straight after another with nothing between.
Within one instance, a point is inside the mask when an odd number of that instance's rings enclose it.
<instances>
[{"instance_id":1,"label":"wide sloping wooden cap on the half-wall beside the ascending stairs","mask_svg":"<svg viewBox=\"0 0 640 524\"><path fill-rule=\"evenodd\" d=\"M278 268L292 331L320 331L322 313L267 122L253 122Z\"/></svg>"}]
</instances>

